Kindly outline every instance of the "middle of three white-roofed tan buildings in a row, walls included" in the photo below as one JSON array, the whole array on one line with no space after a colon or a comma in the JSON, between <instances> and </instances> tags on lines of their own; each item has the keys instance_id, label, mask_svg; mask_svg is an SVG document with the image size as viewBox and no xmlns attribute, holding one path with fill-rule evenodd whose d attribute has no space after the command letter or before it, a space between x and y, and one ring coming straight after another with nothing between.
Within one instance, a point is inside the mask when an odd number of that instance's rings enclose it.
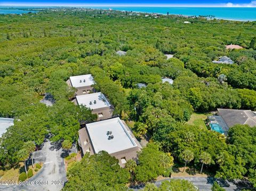
<instances>
[{"instance_id":1,"label":"middle of three white-roofed tan buildings in a row, walls included","mask_svg":"<svg viewBox=\"0 0 256 191\"><path fill-rule=\"evenodd\" d=\"M90 108L92 113L98 115L98 121L112 117L113 107L101 92L76 96L73 102Z\"/></svg>"}]
</instances>

